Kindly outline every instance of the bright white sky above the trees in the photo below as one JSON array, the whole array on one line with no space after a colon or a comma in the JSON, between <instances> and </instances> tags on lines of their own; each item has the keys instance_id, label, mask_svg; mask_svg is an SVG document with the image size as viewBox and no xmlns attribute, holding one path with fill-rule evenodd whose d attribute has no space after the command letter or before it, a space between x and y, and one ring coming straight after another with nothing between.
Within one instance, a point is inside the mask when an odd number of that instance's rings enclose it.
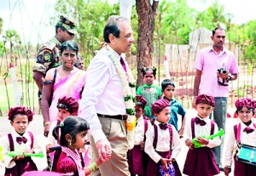
<instances>
[{"instance_id":1,"label":"bright white sky above the trees","mask_svg":"<svg viewBox=\"0 0 256 176\"><path fill-rule=\"evenodd\" d=\"M109 0L117 2L118 0ZM127 1L127 0L125 0ZM189 6L199 11L207 9L213 0L188 0ZM3 32L15 29L21 42L29 41L36 45L44 43L55 35L55 24L49 24L49 18L55 16L56 0L0 0L0 17L3 18ZM234 15L231 22L241 25L256 20L254 0L219 0L226 13ZM57 21L56 17L55 21Z\"/></svg>"}]
</instances>

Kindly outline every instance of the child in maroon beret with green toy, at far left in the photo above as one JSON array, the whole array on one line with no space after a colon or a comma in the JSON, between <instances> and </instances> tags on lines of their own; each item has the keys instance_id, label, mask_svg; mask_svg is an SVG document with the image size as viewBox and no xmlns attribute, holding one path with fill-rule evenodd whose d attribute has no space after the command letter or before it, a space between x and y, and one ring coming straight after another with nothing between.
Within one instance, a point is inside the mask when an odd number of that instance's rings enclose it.
<instances>
[{"instance_id":1,"label":"child in maroon beret with green toy, at far left","mask_svg":"<svg viewBox=\"0 0 256 176\"><path fill-rule=\"evenodd\" d=\"M26 171L38 170L31 156L24 153L41 153L42 148L38 145L37 138L32 132L26 130L32 122L34 113L26 107L12 107L9 110L9 121L14 128L12 133L3 136L3 163L6 167L5 176L20 176ZM16 151L21 156L8 156L7 152Z\"/></svg>"}]
</instances>

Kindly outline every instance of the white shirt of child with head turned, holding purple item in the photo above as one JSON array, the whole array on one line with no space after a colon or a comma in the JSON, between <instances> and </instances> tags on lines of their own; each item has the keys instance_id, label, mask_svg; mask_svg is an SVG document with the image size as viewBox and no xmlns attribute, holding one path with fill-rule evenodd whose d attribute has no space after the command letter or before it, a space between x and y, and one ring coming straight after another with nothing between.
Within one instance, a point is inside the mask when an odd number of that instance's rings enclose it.
<instances>
[{"instance_id":1,"label":"white shirt of child with head turned, holding purple item","mask_svg":"<svg viewBox=\"0 0 256 176\"><path fill-rule=\"evenodd\" d=\"M160 129L159 124L160 122L155 121L154 124L158 129L158 137L157 137L157 144L155 150L157 151L169 151L170 150L170 132L169 129ZM180 139L177 133L176 128L172 126L172 156L171 158L176 158L177 154L181 150ZM160 161L162 156L160 156L155 150L153 146L154 141L154 126L150 126L146 133L146 142L145 142L145 152L151 159L157 163Z\"/></svg>"}]
</instances>

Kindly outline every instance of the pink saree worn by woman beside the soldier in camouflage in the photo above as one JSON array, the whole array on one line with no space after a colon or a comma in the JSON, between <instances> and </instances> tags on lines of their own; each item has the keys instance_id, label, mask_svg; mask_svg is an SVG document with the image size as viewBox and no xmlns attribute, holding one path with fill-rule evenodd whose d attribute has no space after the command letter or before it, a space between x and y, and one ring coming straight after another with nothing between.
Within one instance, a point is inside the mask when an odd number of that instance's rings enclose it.
<instances>
[{"instance_id":1,"label":"pink saree worn by woman beside the soldier in camouflage","mask_svg":"<svg viewBox=\"0 0 256 176\"><path fill-rule=\"evenodd\" d=\"M54 85L52 103L49 106L49 121L54 122L58 117L57 103L62 96L71 96L74 99L81 99L81 91L84 88L86 72L75 70L68 77L62 78L57 73Z\"/></svg>"}]
</instances>

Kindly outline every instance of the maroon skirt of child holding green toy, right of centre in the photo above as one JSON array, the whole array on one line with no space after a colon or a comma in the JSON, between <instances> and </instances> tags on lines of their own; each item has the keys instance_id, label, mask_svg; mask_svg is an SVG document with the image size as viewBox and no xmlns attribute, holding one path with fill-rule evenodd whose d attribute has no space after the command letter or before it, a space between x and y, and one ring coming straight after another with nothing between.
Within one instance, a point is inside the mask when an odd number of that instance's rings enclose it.
<instances>
[{"instance_id":1,"label":"maroon skirt of child holding green toy, right of centre","mask_svg":"<svg viewBox=\"0 0 256 176\"><path fill-rule=\"evenodd\" d=\"M220 173L212 149L201 147L189 150L183 173L189 176L212 176Z\"/></svg>"}]
</instances>

